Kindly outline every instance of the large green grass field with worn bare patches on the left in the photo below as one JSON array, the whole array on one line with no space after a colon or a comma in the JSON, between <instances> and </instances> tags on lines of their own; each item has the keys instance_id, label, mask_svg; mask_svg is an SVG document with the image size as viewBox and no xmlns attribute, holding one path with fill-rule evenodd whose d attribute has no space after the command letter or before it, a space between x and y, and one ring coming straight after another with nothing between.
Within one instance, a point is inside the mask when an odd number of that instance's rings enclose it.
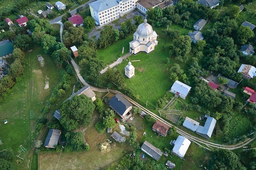
<instances>
[{"instance_id":1,"label":"large green grass field with worn bare patches on the left","mask_svg":"<svg viewBox=\"0 0 256 170\"><path fill-rule=\"evenodd\" d=\"M44 66L40 65L38 54L42 54ZM61 80L62 72L62 69L57 69L50 57L43 53L41 47L35 47L25 55L23 75L0 104L0 137L3 142L0 150L11 148L14 153L20 150L21 144L27 150L31 147L30 140L27 140L29 134L34 128L36 118L45 107L45 99L49 98L52 88ZM34 112L34 118L30 118L30 111ZM3 124L5 119L7 124Z\"/></svg>"}]
</instances>

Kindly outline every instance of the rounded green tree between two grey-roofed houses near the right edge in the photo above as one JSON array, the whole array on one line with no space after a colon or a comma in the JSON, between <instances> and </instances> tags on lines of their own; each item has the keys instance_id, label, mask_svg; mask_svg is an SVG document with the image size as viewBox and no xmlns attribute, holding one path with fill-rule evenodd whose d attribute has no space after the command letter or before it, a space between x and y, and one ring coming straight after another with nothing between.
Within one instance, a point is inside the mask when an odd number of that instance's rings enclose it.
<instances>
[{"instance_id":1,"label":"rounded green tree between two grey-roofed houses near the right edge","mask_svg":"<svg viewBox=\"0 0 256 170\"><path fill-rule=\"evenodd\" d=\"M254 37L254 32L249 26L241 25L237 31L237 36L240 44L245 44L250 38Z\"/></svg>"}]
</instances>

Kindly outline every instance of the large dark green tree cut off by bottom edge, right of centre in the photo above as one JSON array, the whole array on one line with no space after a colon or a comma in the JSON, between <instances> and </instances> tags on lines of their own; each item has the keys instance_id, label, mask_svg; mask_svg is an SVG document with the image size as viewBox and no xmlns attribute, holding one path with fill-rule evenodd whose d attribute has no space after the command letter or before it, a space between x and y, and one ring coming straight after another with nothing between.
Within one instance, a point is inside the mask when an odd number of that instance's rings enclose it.
<instances>
[{"instance_id":1,"label":"large dark green tree cut off by bottom edge, right of centre","mask_svg":"<svg viewBox=\"0 0 256 170\"><path fill-rule=\"evenodd\" d=\"M230 150L218 149L211 153L208 163L209 170L246 170L238 156Z\"/></svg>"}]
</instances>

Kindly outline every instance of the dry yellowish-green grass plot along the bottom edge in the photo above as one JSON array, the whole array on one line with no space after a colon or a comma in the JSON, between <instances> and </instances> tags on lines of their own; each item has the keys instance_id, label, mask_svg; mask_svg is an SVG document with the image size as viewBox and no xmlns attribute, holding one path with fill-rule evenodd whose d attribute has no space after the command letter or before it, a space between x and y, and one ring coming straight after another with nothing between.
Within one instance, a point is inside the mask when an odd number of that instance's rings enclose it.
<instances>
[{"instance_id":1,"label":"dry yellowish-green grass plot along the bottom edge","mask_svg":"<svg viewBox=\"0 0 256 170\"><path fill-rule=\"evenodd\" d=\"M38 170L98 170L123 157L133 149L127 143L118 143L110 135L112 133L98 133L94 124L99 121L99 114L94 111L92 121L84 131L84 138L90 146L89 151L56 153L45 152L39 154ZM115 131L119 133L119 124L116 124ZM99 144L110 139L113 143L110 145L110 151L102 153L99 150Z\"/></svg>"}]
</instances>

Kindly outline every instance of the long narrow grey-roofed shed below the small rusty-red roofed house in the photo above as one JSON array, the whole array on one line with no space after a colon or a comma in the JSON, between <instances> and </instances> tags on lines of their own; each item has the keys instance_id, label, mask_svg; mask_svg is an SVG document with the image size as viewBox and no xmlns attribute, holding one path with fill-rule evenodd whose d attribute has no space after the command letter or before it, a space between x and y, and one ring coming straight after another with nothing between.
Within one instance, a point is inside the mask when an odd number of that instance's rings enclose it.
<instances>
[{"instance_id":1,"label":"long narrow grey-roofed shed below the small rusty-red roofed house","mask_svg":"<svg viewBox=\"0 0 256 170\"><path fill-rule=\"evenodd\" d=\"M150 144L148 141L143 142L141 146L141 150L157 161L163 155L163 152L160 149L156 148L155 146Z\"/></svg>"}]
</instances>

